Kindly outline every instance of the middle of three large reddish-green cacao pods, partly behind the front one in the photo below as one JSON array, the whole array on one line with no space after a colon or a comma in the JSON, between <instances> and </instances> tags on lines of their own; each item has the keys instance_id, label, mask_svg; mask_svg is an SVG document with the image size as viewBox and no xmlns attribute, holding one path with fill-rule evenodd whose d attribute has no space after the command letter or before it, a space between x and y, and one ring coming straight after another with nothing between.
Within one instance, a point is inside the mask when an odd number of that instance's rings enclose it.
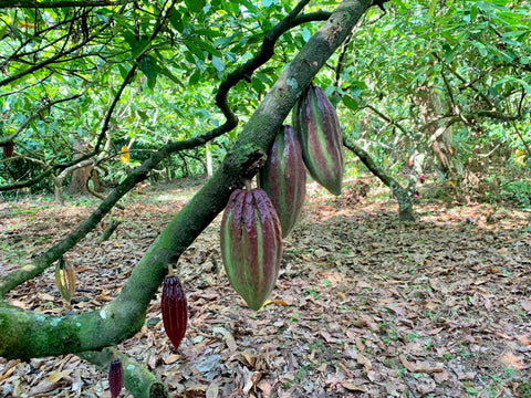
<instances>
[{"instance_id":1,"label":"middle of three large reddish-green cacao pods, partly behind the front one","mask_svg":"<svg viewBox=\"0 0 531 398\"><path fill-rule=\"evenodd\" d=\"M306 170L295 130L282 126L260 172L260 186L268 193L279 216L282 237L295 224L306 195Z\"/></svg>"}]
</instances>

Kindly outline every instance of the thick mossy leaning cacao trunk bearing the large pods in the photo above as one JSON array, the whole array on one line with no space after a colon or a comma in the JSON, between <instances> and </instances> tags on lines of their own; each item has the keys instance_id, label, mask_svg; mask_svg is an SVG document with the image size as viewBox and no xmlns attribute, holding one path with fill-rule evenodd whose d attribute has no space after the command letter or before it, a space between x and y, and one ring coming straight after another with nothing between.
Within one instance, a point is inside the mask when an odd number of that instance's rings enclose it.
<instances>
[{"instance_id":1,"label":"thick mossy leaning cacao trunk bearing the large pods","mask_svg":"<svg viewBox=\"0 0 531 398\"><path fill-rule=\"evenodd\" d=\"M310 39L250 117L222 166L163 230L114 301L98 311L62 317L0 302L0 356L25 360L97 350L132 337L144 324L168 265L212 222L232 190L257 172L296 98L371 6L372 0L344 0Z\"/></svg>"}]
</instances>

